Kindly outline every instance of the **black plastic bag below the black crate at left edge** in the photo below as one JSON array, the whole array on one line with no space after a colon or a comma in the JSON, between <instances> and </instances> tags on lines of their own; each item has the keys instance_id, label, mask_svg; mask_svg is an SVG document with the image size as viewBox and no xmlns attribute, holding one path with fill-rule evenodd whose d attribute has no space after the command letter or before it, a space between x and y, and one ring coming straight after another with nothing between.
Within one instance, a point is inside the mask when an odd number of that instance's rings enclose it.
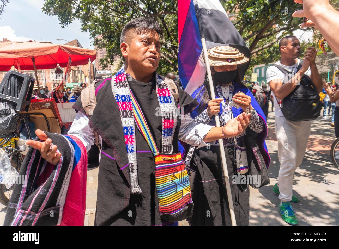
<instances>
[{"instance_id":1,"label":"black plastic bag below the black crate at left edge","mask_svg":"<svg viewBox=\"0 0 339 249\"><path fill-rule=\"evenodd\" d=\"M0 102L0 138L17 130L18 113L6 102Z\"/></svg>"}]
</instances>

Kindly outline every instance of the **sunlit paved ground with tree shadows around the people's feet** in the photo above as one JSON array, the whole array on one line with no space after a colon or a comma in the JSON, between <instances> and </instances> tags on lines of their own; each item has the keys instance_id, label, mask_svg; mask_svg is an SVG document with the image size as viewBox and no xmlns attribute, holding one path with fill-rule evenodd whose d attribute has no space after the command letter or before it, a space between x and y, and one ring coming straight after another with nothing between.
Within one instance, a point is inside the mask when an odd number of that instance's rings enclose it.
<instances>
[{"instance_id":1,"label":"sunlit paved ground with tree shadows around the people's feet","mask_svg":"<svg viewBox=\"0 0 339 249\"><path fill-rule=\"evenodd\" d=\"M335 140L331 120L322 116L312 122L304 161L294 175L293 194L301 201L292 203L297 212L299 225L339 225L339 170L331 162L330 149ZM271 155L268 169L271 183L260 189L250 188L250 225L288 225L280 214L278 195L272 191L277 182L279 160L274 134L274 113L268 114L268 136L266 139ZM87 172L87 196L85 225L94 225L98 167ZM0 225L5 218L5 206L0 204ZM188 225L186 221L179 225Z\"/></svg>"}]
</instances>

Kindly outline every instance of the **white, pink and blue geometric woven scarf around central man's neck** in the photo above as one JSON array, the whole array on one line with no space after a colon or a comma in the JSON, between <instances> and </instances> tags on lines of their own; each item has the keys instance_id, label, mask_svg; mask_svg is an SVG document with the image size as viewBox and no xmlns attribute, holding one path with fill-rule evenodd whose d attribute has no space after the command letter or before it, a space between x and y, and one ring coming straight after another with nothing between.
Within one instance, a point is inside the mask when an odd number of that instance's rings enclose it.
<instances>
[{"instance_id":1,"label":"white, pink and blue geometric woven scarf around central man's neck","mask_svg":"<svg viewBox=\"0 0 339 249\"><path fill-rule=\"evenodd\" d=\"M137 149L135 138L134 119L139 121L143 117L143 113L139 105L133 105L131 89L125 76L124 66L116 73L112 79L112 91L117 101L120 118L123 126L125 144L127 150L129 174L131 178L131 193L141 193L138 184L138 168L137 168ZM167 88L165 82L157 77L156 90L158 95L159 106L162 116L162 153L173 153L173 135L174 128L177 124L176 105L171 90ZM136 103L134 99L134 103ZM156 149L155 142L149 138L150 131L145 125L139 127L140 132L146 138L146 142L150 145L154 155L159 154ZM146 137L145 137L146 136ZM156 151L157 150L157 151Z\"/></svg>"}]
</instances>

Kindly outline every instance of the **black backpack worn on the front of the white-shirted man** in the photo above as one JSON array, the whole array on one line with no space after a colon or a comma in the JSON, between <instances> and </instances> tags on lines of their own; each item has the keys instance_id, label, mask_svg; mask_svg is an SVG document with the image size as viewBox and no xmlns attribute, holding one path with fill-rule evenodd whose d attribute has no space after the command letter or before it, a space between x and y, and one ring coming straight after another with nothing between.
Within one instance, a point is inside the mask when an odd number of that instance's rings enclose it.
<instances>
[{"instance_id":1,"label":"black backpack worn on the front of the white-shirted man","mask_svg":"<svg viewBox=\"0 0 339 249\"><path fill-rule=\"evenodd\" d=\"M300 61L297 71L302 67L303 60ZM283 72L286 77L283 84L290 80L294 74L284 67L279 65L272 65ZM290 121L307 121L315 120L320 115L321 102L319 94L308 75L303 75L300 84L282 100L281 112L284 117Z\"/></svg>"}]
</instances>

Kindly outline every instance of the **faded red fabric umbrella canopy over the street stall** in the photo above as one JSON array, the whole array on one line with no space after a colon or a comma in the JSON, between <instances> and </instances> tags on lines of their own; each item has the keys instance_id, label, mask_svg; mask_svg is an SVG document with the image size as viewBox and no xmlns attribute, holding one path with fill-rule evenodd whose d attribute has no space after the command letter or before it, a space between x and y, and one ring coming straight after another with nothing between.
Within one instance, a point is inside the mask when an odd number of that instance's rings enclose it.
<instances>
[{"instance_id":1,"label":"faded red fabric umbrella canopy over the street stall","mask_svg":"<svg viewBox=\"0 0 339 249\"><path fill-rule=\"evenodd\" d=\"M85 65L88 59L93 62L97 51L82 47L49 44L41 42L23 42L0 48L0 71L8 71L12 66L21 70L33 70L32 58L37 69L55 68L57 64L67 67L69 55L71 66Z\"/></svg>"}]
</instances>

